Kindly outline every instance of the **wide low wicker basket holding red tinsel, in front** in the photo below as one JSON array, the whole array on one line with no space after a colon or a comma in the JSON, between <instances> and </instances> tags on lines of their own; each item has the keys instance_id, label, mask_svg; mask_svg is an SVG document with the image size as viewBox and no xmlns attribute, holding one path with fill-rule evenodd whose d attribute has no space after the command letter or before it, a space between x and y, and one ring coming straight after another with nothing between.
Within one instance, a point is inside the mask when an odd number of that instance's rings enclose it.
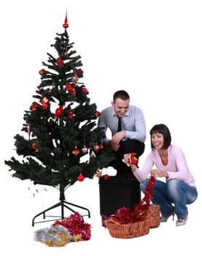
<instances>
[{"instance_id":1,"label":"wide low wicker basket holding red tinsel, in front","mask_svg":"<svg viewBox=\"0 0 202 256\"><path fill-rule=\"evenodd\" d=\"M149 233L150 219L125 225L114 219L106 219L105 225L109 229L109 234L114 238L135 238Z\"/></svg>"}]
</instances>

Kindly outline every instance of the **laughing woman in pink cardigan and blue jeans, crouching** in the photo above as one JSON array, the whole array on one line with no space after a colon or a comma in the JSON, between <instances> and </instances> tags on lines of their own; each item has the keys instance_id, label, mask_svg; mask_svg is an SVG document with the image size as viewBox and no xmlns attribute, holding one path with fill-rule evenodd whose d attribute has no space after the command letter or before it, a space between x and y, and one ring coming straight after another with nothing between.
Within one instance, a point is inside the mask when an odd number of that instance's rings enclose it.
<instances>
[{"instance_id":1,"label":"laughing woman in pink cardigan and blue jeans, crouching","mask_svg":"<svg viewBox=\"0 0 202 256\"><path fill-rule=\"evenodd\" d=\"M142 192L145 192L147 187L149 173L151 176L166 178L166 183L158 179L155 181L152 203L160 205L160 222L166 222L171 216L174 219L176 214L176 226L185 225L188 216L187 205L198 197L195 180L181 149L171 145L171 133L165 124L152 127L150 136L152 151L141 170L130 162L129 154L124 155L124 160L141 182ZM152 169L153 165L157 168Z\"/></svg>"}]
</instances>

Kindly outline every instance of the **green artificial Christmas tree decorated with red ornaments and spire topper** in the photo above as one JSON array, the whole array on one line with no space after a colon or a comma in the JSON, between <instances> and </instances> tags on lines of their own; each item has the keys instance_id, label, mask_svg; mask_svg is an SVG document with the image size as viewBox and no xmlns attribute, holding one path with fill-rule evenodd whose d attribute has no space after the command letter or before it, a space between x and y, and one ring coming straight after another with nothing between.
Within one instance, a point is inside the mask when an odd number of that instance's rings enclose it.
<instances>
[{"instance_id":1,"label":"green artificial Christmas tree decorated with red ornaments and spire topper","mask_svg":"<svg viewBox=\"0 0 202 256\"><path fill-rule=\"evenodd\" d=\"M96 125L99 112L96 104L90 104L81 81L82 61L69 42L67 18L63 27L65 31L51 45L58 56L47 53L48 64L43 62L44 69L39 71L35 100L24 114L22 131L28 135L15 135L16 151L23 161L15 157L5 161L15 171L13 177L59 188L60 203L52 208L62 205L62 218L66 187L93 178L113 158L112 151L101 145L105 135ZM88 160L83 162L86 154Z\"/></svg>"}]
</instances>

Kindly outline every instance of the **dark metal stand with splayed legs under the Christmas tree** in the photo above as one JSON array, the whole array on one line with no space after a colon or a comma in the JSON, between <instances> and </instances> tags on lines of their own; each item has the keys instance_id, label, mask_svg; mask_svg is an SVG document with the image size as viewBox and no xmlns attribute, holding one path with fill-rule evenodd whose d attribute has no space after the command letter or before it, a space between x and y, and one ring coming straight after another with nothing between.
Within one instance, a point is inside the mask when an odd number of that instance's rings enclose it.
<instances>
[{"instance_id":1,"label":"dark metal stand with splayed legs under the Christmas tree","mask_svg":"<svg viewBox=\"0 0 202 256\"><path fill-rule=\"evenodd\" d=\"M34 218L32 219L32 227L34 227L34 224L36 223L42 223L42 222L51 222L53 220L58 220L58 219L64 219L64 207L69 209L70 211L72 212L77 212L77 211L74 211L72 208L70 208L69 206L74 206L74 207L77 207L77 208L82 208L86 211L88 211L88 214L85 214L85 215L82 215L82 217L84 216L88 216L88 218L90 218L90 211L88 210L88 208L85 208L85 207L82 207L82 206L77 206L76 204L74 203L69 203L65 200L65 196L64 196L64 187L63 187L63 184L60 184L60 202L59 203L56 203L54 206L51 206L50 208L47 208L46 210L40 212L39 214L36 214L36 216L34 216ZM68 206L69 205L69 206ZM54 208L57 208L58 206L61 206L61 216L50 216L50 215L46 215L46 212L47 211L50 211ZM35 222L34 220L36 219L36 217L39 217L40 215L43 215L43 218L45 219L45 217L57 217L57 219L49 219L49 220L44 220L44 221L41 221L41 222Z\"/></svg>"}]
</instances>

